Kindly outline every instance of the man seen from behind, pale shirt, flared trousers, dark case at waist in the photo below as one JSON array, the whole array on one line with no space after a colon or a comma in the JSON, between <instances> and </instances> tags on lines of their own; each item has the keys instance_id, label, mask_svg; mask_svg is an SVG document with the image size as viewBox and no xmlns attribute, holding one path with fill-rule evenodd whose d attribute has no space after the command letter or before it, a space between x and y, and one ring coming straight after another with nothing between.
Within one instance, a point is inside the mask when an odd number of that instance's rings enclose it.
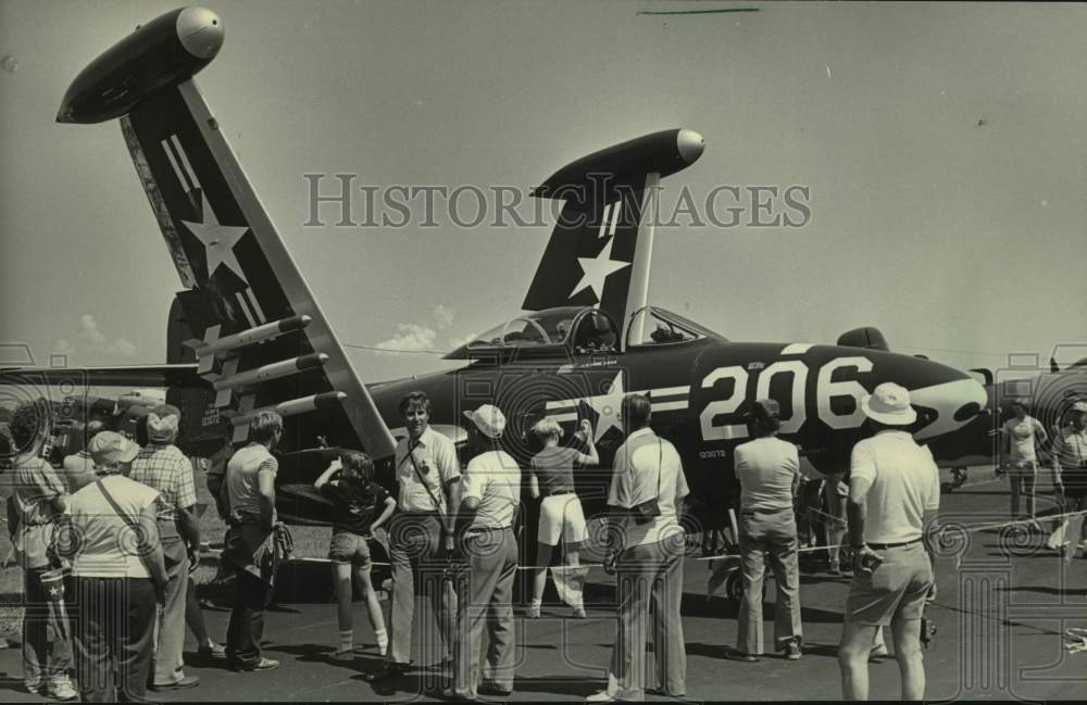
<instances>
[{"instance_id":1,"label":"man seen from behind, pale shirt, flared trousers, dark case at waist","mask_svg":"<svg viewBox=\"0 0 1087 705\"><path fill-rule=\"evenodd\" d=\"M640 701L646 693L646 626L650 595L653 612L654 690L671 697L687 692L679 601L686 543L676 505L687 496L679 453L649 427L649 399L623 398L620 418L626 441L615 451L615 470L608 492L609 537L604 569L614 572L616 639L608 668L608 689L588 703Z\"/></svg>"}]
</instances>

